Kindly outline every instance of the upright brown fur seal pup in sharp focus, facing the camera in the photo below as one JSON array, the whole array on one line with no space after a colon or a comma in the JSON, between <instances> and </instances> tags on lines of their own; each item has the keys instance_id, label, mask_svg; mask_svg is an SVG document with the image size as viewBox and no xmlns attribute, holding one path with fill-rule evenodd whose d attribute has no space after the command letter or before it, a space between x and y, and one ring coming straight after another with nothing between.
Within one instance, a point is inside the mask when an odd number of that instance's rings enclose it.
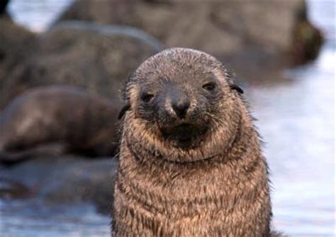
<instances>
[{"instance_id":1,"label":"upright brown fur seal pup in sharp focus, facing the camera","mask_svg":"<svg viewBox=\"0 0 336 237\"><path fill-rule=\"evenodd\" d=\"M204 52L147 59L125 87L114 236L270 236L268 168L233 73Z\"/></svg>"}]
</instances>

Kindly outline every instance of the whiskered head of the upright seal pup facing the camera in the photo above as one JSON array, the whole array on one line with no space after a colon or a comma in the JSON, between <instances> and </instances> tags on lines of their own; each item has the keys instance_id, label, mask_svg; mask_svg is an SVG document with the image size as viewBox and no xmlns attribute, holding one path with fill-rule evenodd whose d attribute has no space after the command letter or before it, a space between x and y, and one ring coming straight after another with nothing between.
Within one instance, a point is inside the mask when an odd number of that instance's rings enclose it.
<instances>
[{"instance_id":1,"label":"whiskered head of the upright seal pup facing the camera","mask_svg":"<svg viewBox=\"0 0 336 237\"><path fill-rule=\"evenodd\" d=\"M123 112L130 111L124 125L137 126L130 134L170 161L215 156L229 149L240 121L233 104L242 90L231 77L228 68L209 54L164 50L130 77Z\"/></svg>"}]
</instances>

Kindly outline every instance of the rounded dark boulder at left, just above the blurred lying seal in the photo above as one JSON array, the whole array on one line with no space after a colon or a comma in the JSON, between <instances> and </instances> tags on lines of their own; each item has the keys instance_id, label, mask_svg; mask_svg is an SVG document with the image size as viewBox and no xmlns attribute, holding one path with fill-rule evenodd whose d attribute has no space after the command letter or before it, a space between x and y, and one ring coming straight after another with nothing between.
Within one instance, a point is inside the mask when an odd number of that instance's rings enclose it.
<instances>
[{"instance_id":1,"label":"rounded dark boulder at left, just above the blurred lying seal","mask_svg":"<svg viewBox=\"0 0 336 237\"><path fill-rule=\"evenodd\" d=\"M35 53L0 88L0 108L27 88L59 83L116 99L128 74L159 50L155 38L135 28L60 23L38 37Z\"/></svg>"}]
</instances>

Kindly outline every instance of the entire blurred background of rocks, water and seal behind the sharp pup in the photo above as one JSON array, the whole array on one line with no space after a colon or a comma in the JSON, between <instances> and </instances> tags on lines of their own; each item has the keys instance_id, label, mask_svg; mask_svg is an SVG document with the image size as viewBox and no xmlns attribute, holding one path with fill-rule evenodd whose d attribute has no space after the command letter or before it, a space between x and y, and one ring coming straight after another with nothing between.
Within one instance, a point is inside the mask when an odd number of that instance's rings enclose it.
<instances>
[{"instance_id":1,"label":"entire blurred background of rocks, water and seal behind the sharp pup","mask_svg":"<svg viewBox=\"0 0 336 237\"><path fill-rule=\"evenodd\" d=\"M1 0L1 236L109 236L123 81L175 46L237 72L274 228L334 236L335 13L331 0Z\"/></svg>"}]
</instances>

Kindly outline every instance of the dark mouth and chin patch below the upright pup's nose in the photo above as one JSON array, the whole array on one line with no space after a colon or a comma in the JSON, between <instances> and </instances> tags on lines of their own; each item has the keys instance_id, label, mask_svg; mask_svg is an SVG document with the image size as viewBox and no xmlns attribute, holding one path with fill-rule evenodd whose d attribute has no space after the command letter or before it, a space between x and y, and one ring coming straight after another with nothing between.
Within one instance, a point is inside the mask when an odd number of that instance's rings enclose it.
<instances>
[{"instance_id":1,"label":"dark mouth and chin patch below the upright pup's nose","mask_svg":"<svg viewBox=\"0 0 336 237\"><path fill-rule=\"evenodd\" d=\"M164 126L161 132L164 140L169 140L169 143L173 146L187 149L197 146L207 130L208 127L206 125L181 123L179 125Z\"/></svg>"}]
</instances>

